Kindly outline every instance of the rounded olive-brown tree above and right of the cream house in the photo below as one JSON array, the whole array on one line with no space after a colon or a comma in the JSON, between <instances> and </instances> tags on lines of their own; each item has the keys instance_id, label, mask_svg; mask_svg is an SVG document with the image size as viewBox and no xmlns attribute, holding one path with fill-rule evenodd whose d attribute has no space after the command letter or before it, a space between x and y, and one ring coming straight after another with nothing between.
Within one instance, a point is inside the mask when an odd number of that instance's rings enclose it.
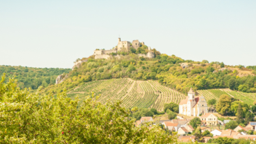
<instances>
[{"instance_id":1,"label":"rounded olive-brown tree above and right of the cream house","mask_svg":"<svg viewBox=\"0 0 256 144\"><path fill-rule=\"evenodd\" d=\"M218 103L216 105L216 111L221 115L226 115L231 109L231 98L227 94L223 94L218 99Z\"/></svg>"}]
</instances>

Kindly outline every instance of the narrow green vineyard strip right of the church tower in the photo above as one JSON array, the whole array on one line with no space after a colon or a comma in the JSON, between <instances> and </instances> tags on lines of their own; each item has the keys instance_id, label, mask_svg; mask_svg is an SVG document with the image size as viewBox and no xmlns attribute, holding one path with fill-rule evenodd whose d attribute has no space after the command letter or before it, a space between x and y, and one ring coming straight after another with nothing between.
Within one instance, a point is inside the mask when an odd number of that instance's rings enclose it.
<instances>
[{"instance_id":1,"label":"narrow green vineyard strip right of the church tower","mask_svg":"<svg viewBox=\"0 0 256 144\"><path fill-rule=\"evenodd\" d=\"M199 95L203 95L206 99L206 101L216 98L218 101L218 98L222 94L227 94L229 96L232 96L234 98L240 99L240 101L243 101L244 103L247 103L248 105L253 105L253 101L256 99L255 93L246 93L246 92L236 92L233 90L229 90L228 88L225 89L212 89L212 90L197 90Z\"/></svg>"}]
</instances>

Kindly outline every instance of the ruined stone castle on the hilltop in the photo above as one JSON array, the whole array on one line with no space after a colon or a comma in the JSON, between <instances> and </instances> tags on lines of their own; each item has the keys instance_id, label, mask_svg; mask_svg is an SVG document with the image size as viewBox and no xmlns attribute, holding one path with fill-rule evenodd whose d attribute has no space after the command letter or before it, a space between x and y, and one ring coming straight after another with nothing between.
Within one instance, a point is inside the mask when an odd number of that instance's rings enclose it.
<instances>
[{"instance_id":1,"label":"ruined stone castle on the hilltop","mask_svg":"<svg viewBox=\"0 0 256 144\"><path fill-rule=\"evenodd\" d=\"M118 43L117 46L115 46L115 48L113 48L112 50L94 50L94 56L95 59L98 58L111 58L111 54L117 54L118 51L122 51L122 52L129 52L130 48L134 48L134 49L138 49L139 47L143 46L144 42L139 42L139 40L133 40L132 43L130 41L121 41L121 38L118 38ZM151 48L148 47L149 52L147 52L147 54L138 54L138 56L143 56L145 58L154 58L154 52L152 52ZM117 58L119 58L120 56L117 54Z\"/></svg>"}]
</instances>

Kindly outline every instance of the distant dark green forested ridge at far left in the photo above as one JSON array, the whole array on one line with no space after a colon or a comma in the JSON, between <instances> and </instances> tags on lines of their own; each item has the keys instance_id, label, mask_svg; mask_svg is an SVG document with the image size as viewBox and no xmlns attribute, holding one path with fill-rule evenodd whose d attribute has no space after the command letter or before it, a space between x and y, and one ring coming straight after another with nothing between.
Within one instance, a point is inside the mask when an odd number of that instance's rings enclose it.
<instances>
[{"instance_id":1,"label":"distant dark green forested ridge at far left","mask_svg":"<svg viewBox=\"0 0 256 144\"><path fill-rule=\"evenodd\" d=\"M32 90L36 90L39 86L47 87L53 85L57 75L69 73L70 71L71 69L0 65L0 75L5 73L6 81L15 75L20 88L31 88Z\"/></svg>"}]
</instances>

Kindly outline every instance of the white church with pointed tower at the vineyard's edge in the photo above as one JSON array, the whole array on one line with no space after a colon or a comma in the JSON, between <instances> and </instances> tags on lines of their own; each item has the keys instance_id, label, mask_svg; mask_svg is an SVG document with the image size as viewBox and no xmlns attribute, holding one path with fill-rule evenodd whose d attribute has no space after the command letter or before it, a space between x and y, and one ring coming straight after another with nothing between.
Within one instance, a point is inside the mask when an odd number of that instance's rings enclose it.
<instances>
[{"instance_id":1,"label":"white church with pointed tower at the vineyard's edge","mask_svg":"<svg viewBox=\"0 0 256 144\"><path fill-rule=\"evenodd\" d=\"M195 97L195 92L190 88L188 97L179 104L179 113L188 116L199 116L208 113L206 100L203 96Z\"/></svg>"}]
</instances>

